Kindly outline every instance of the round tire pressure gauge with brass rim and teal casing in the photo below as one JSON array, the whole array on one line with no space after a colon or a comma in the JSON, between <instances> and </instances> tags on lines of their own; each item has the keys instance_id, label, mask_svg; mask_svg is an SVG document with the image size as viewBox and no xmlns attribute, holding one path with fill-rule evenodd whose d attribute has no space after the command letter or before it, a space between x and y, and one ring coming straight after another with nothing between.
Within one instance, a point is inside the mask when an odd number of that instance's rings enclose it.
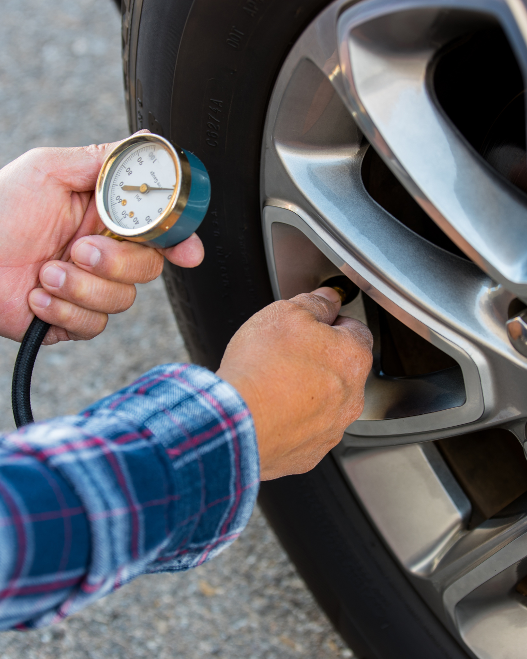
<instances>
[{"instance_id":1,"label":"round tire pressure gauge with brass rim and teal casing","mask_svg":"<svg viewBox=\"0 0 527 659\"><path fill-rule=\"evenodd\" d=\"M200 225L210 181L194 154L152 133L132 135L105 160L96 186L103 235L171 247Z\"/></svg>"}]
</instances>

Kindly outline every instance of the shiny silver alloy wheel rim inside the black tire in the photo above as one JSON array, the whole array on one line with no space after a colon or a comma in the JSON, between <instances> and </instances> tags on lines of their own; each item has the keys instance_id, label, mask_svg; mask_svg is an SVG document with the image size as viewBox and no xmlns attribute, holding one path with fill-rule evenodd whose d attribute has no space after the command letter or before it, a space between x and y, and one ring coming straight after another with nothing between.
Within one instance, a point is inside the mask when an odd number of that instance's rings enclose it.
<instances>
[{"instance_id":1,"label":"shiny silver alloy wheel rim inside the black tire","mask_svg":"<svg viewBox=\"0 0 527 659\"><path fill-rule=\"evenodd\" d=\"M503 31L525 74L527 11L518 0L329 5L273 90L262 222L277 299L345 273L362 290L345 314L364 320L374 301L454 364L411 377L372 370L364 413L335 455L408 578L464 647L482 659L520 659L527 504L469 528L474 503L433 444L489 428L526 442L527 358L507 321L511 305L527 301L527 196L467 144L430 83L441 49L486 26ZM375 202L362 172L372 148L469 258Z\"/></svg>"}]
</instances>

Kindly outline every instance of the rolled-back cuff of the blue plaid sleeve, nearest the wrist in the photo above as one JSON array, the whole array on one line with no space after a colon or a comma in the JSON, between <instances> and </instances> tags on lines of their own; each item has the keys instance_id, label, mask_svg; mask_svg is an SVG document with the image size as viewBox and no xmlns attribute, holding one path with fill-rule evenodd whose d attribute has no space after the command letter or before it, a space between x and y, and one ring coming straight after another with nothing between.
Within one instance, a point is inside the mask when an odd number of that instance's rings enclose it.
<instances>
[{"instance_id":1,"label":"rolled-back cuff of the blue plaid sleeve, nearest the wrist","mask_svg":"<svg viewBox=\"0 0 527 659\"><path fill-rule=\"evenodd\" d=\"M252 416L234 387L193 364L157 366L81 415L4 440L70 483L88 516L86 577L32 626L145 572L188 569L231 544L258 494Z\"/></svg>"}]
</instances>

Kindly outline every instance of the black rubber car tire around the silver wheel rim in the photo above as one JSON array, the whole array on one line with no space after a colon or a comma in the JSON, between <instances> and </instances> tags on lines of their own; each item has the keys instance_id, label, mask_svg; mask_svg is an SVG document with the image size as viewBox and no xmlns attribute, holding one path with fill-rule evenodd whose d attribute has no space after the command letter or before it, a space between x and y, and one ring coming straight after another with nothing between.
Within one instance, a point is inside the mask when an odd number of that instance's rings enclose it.
<instances>
[{"instance_id":1,"label":"black rubber car tire around the silver wheel rim","mask_svg":"<svg viewBox=\"0 0 527 659\"><path fill-rule=\"evenodd\" d=\"M273 83L327 2L123 1L130 129L163 134L211 177L198 234L204 262L165 282L194 362L217 369L236 329L273 301L260 208L260 156ZM264 482L260 505L333 625L361 659L466 653L410 585L328 455L310 473Z\"/></svg>"}]
</instances>

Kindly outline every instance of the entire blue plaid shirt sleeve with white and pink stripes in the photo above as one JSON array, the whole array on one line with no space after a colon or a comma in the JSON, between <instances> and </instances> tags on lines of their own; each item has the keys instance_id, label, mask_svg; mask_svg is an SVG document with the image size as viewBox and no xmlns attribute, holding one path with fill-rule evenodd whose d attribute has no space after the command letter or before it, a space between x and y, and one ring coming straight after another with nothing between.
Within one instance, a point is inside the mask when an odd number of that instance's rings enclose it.
<instances>
[{"instance_id":1,"label":"entire blue plaid shirt sleeve with white and pink stripes","mask_svg":"<svg viewBox=\"0 0 527 659\"><path fill-rule=\"evenodd\" d=\"M1 436L0 629L208 561L244 529L258 483L252 417L200 366L157 366L78 416Z\"/></svg>"}]
</instances>

